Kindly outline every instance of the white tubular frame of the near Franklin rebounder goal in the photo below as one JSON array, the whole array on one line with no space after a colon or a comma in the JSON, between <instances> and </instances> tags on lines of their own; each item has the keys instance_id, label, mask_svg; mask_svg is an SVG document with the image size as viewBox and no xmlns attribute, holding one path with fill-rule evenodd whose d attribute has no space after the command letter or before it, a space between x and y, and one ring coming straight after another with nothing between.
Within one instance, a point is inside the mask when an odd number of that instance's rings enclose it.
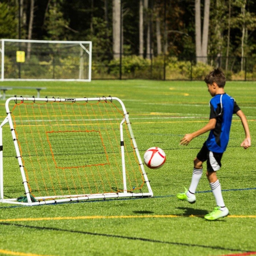
<instances>
[{"instance_id":1,"label":"white tubular frame of the near Franklin rebounder goal","mask_svg":"<svg viewBox=\"0 0 256 256\"><path fill-rule=\"evenodd\" d=\"M12 203L12 204L22 204L22 205L44 205L44 204L52 204L52 203L60 203L60 202L71 202L71 201L80 201L80 200L86 200L86 199L106 199L106 198L118 198L118 197L152 197L153 196L153 192L152 189L150 187L149 184L149 180L147 177L147 174L144 170L144 166L143 166L143 162L141 160L141 156L133 135L133 131L131 128L131 123L129 121L129 115L125 109L125 106L123 104L123 102L116 97L97 97L97 98L48 98L48 101L56 101L56 102L68 102L68 101L107 101L107 100L116 100L117 102L119 102L122 106L123 109L123 113L124 113L124 118L120 123L120 145L121 145L121 157L122 157L122 171L123 171L123 193L103 193L103 194L88 194L88 195L66 195L66 196L55 196L56 199L53 200L46 200L46 201L37 201L37 202L32 202L30 199L30 192L28 189L28 185L27 185L27 180L26 180L26 175L24 172L24 168L23 168L23 164L22 164L22 160L20 157L20 150L18 147L18 143L16 141L16 135L15 135L15 131L13 129L13 121L11 118L11 113L9 110L9 102L10 101L46 101L46 98L23 98L23 97L11 97L9 99L6 100L5 102L5 108L6 108L6 112L7 112L7 117L5 117L4 121L1 123L0 125L0 202L1 203ZM123 142L123 123L127 123L128 125L128 129L131 135L131 139L133 142L133 146L135 148L135 152L137 154L137 158L139 161L139 164L141 166L141 170L144 176L144 181L147 185L148 188L148 193L128 193L127 192L127 187L126 187L126 171L125 171L125 155L124 155L124 142ZM13 137L13 142L14 142L14 146L15 146L15 150L16 150L16 155L17 155L17 159L18 159L18 164L20 166L20 172L21 172L21 176L22 176L22 181L24 184L24 189L25 189L25 194L27 196L28 199L28 203L21 203L21 202L17 202L17 198L13 198L13 199L4 199L4 192L3 192L3 133L2 133L2 127L3 125L5 125L6 123L9 123L10 128L11 128L11 133L12 133L12 137ZM61 199L61 197L63 197L63 199ZM65 197L65 198L64 198ZM52 197L36 197L36 199L47 199L47 198L52 198ZM58 199L57 199L58 198Z\"/></svg>"}]
</instances>

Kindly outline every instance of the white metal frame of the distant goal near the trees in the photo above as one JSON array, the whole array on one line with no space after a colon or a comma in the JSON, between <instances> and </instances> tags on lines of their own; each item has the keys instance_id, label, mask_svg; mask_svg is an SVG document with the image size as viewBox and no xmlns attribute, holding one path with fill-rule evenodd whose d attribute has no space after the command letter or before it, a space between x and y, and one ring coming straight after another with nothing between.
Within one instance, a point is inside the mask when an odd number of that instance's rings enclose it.
<instances>
[{"instance_id":1,"label":"white metal frame of the distant goal near the trees","mask_svg":"<svg viewBox=\"0 0 256 256\"><path fill-rule=\"evenodd\" d=\"M83 81L90 82L92 79L92 42L91 41L50 41L50 40L23 40L23 39L0 39L2 42L1 52L1 80L0 81ZM51 44L79 44L80 47L89 55L89 74L88 79L5 79L5 42L31 42L31 43L51 43ZM82 44L89 44L89 49L86 49Z\"/></svg>"}]
</instances>

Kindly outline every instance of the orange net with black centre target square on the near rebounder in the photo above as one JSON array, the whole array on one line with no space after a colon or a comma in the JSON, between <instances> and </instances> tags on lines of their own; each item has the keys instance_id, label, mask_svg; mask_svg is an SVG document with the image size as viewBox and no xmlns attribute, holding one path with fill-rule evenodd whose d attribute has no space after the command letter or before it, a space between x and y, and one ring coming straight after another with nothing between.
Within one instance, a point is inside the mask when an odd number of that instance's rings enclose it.
<instances>
[{"instance_id":1,"label":"orange net with black centre target square on the near rebounder","mask_svg":"<svg viewBox=\"0 0 256 256\"><path fill-rule=\"evenodd\" d=\"M16 103L12 118L28 187L35 197L123 191L120 123L113 102ZM123 124L127 191L144 185Z\"/></svg>"}]
</instances>

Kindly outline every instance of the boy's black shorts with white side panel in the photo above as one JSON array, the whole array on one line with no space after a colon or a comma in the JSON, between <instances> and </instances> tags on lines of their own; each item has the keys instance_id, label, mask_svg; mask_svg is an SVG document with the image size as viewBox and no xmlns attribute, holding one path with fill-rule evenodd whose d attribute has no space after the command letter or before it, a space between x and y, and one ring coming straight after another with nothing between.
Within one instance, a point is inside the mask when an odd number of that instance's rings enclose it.
<instances>
[{"instance_id":1,"label":"boy's black shorts with white side panel","mask_svg":"<svg viewBox=\"0 0 256 256\"><path fill-rule=\"evenodd\" d=\"M207 164L207 170L209 172L216 172L220 170L221 167L221 158L222 158L223 153L216 153L210 151L206 144L204 143L201 150L197 154L197 159L206 162Z\"/></svg>"}]
</instances>

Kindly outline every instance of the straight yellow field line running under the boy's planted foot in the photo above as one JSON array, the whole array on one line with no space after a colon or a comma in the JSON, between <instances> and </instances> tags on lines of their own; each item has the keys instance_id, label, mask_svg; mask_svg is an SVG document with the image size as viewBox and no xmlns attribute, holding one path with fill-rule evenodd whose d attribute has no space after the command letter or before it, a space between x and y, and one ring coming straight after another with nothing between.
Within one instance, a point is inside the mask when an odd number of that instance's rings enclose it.
<instances>
[{"instance_id":1,"label":"straight yellow field line running under the boy's planted foot","mask_svg":"<svg viewBox=\"0 0 256 256\"><path fill-rule=\"evenodd\" d=\"M203 215L123 215L123 216L68 216L68 217L42 217L42 218L16 218L0 219L0 222L12 221L40 221L40 220L85 220L85 219L129 219L129 218L178 218L178 217L203 217ZM228 215L229 218L256 218L256 215Z\"/></svg>"}]
</instances>

